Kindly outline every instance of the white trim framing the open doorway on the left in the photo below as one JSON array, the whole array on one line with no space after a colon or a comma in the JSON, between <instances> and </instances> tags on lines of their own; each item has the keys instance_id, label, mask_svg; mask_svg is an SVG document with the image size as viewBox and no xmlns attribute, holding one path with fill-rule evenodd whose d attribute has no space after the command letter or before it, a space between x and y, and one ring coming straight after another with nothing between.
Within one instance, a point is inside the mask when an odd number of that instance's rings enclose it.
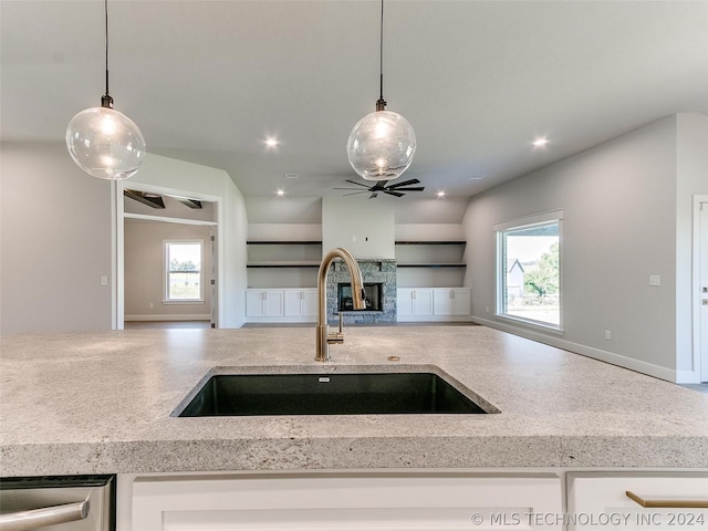
<instances>
[{"instance_id":1,"label":"white trim framing the open doorway on the left","mask_svg":"<svg viewBox=\"0 0 708 531\"><path fill-rule=\"evenodd\" d=\"M217 258L223 256L222 253L222 242L221 238L218 235L221 233L220 228L222 225L222 209L221 209L221 197L211 196L208 194L200 194L191 190L180 190L176 188L167 188L164 186L153 186L146 185L143 183L131 183L125 180L113 181L111 187L112 197L112 243L114 249L114 259L112 264L112 308L111 308L111 327L112 330L123 330L125 326L125 219L126 218L140 218L140 219L150 219L154 221L166 221L171 223L181 223L181 225L205 225L211 226L216 229L216 253ZM215 209L215 218L217 221L198 221L194 219L180 219L180 218L168 218L164 216L146 216L146 215L133 215L128 214L124 209L124 196L123 191L125 189L137 190L137 191L148 191L160 194L165 196L181 196L189 197L191 199L197 199L201 201L208 201L214 204ZM214 309L218 308L218 301L221 299L221 274L222 268L220 263L212 263L212 270L216 268L216 296L217 300L211 303L211 327L219 327L219 312L215 312ZM214 295L214 292L212 292Z\"/></svg>"}]
</instances>

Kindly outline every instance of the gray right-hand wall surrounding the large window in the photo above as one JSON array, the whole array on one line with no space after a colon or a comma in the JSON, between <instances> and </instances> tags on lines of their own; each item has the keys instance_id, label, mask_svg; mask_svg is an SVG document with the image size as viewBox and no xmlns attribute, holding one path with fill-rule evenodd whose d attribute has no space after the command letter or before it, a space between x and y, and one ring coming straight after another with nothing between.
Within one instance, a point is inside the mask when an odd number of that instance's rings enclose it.
<instances>
[{"instance_id":1,"label":"gray right-hand wall surrounding the large window","mask_svg":"<svg viewBox=\"0 0 708 531\"><path fill-rule=\"evenodd\" d=\"M681 353L690 342L690 196L706 191L707 131L705 116L667 117L472 198L464 227L475 319L681 378L690 360ZM565 215L562 336L493 317L492 226L554 209ZM660 287L648 285L650 274Z\"/></svg>"}]
</instances>

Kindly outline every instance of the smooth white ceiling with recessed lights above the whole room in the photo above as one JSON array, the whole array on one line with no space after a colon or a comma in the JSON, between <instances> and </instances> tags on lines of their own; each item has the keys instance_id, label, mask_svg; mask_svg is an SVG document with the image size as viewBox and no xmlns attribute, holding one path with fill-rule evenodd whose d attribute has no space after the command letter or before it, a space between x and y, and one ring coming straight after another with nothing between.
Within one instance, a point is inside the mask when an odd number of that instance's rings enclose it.
<instances>
[{"instance_id":1,"label":"smooth white ceiling with recessed lights above the whole room","mask_svg":"<svg viewBox=\"0 0 708 531\"><path fill-rule=\"evenodd\" d=\"M108 10L111 94L148 152L223 168L246 196L356 179L345 144L378 97L377 0ZM104 91L103 1L2 0L0 15L2 139L63 142ZM384 39L388 110L418 140L402 180L423 181L418 198L471 196L664 116L708 114L707 1L387 0ZM534 149L539 135L550 143Z\"/></svg>"}]
</instances>

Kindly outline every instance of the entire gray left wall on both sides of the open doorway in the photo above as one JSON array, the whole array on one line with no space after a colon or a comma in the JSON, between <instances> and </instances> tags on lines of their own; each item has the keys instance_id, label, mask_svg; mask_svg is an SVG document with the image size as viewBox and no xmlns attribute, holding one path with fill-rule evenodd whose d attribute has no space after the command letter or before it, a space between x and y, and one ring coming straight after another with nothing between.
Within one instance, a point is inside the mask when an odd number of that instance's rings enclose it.
<instances>
[{"instance_id":1,"label":"entire gray left wall on both sides of the open doorway","mask_svg":"<svg viewBox=\"0 0 708 531\"><path fill-rule=\"evenodd\" d=\"M110 330L112 184L84 174L63 143L2 143L0 155L0 333ZM221 198L219 325L240 326L248 220L228 174L148 154L131 183Z\"/></svg>"}]
</instances>

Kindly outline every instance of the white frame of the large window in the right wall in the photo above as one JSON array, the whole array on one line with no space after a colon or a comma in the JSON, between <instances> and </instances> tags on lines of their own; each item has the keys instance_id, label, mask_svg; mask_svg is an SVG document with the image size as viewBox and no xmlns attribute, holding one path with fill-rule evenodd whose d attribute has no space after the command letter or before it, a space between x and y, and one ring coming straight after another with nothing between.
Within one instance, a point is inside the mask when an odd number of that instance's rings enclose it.
<instances>
[{"instance_id":1,"label":"white frame of the large window in the right wall","mask_svg":"<svg viewBox=\"0 0 708 531\"><path fill-rule=\"evenodd\" d=\"M516 218L509 221L496 223L494 229L494 244L497 253L497 264L494 271L494 317L502 321L508 321L513 324L521 324L528 327L542 330L544 332L563 334L563 210L550 210L546 212L540 212L531 216L524 216ZM533 227L541 227L544 225L558 223L558 242L559 242L559 324L550 323L548 321L539 321L519 315L509 314L507 312L506 300L506 284L507 284L507 257L504 236L511 231L529 229Z\"/></svg>"}]
</instances>

